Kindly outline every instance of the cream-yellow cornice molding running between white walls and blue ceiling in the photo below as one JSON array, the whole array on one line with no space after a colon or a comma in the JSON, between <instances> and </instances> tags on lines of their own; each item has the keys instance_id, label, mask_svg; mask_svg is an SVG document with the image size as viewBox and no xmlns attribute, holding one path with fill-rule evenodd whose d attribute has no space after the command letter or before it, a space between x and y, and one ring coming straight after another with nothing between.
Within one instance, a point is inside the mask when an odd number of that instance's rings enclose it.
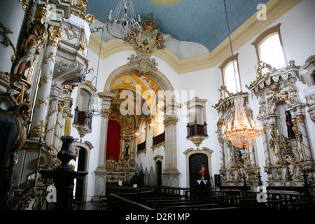
<instances>
[{"instance_id":1,"label":"cream-yellow cornice molding running between white walls and blue ceiling","mask_svg":"<svg viewBox=\"0 0 315 224\"><path fill-rule=\"evenodd\" d=\"M288 12L297 3L302 0L274 0L268 1L265 6L267 8L267 20L257 20L256 13L251 16L243 25L231 34L233 42L233 50L238 50L242 45L250 41L261 31L266 29L272 22L279 19L284 13ZM99 43L101 38L97 34L91 34L89 48L98 55ZM124 41L112 39L110 41L102 41L101 58L105 59L116 52L134 51L132 45L126 45ZM202 69L210 69L217 66L223 60L230 56L230 40L226 38L218 47L209 52L207 55L199 55L186 59L179 59L174 52L165 48L164 50L155 50L152 55L159 57L176 71L176 73L188 73L199 71Z\"/></svg>"}]
</instances>

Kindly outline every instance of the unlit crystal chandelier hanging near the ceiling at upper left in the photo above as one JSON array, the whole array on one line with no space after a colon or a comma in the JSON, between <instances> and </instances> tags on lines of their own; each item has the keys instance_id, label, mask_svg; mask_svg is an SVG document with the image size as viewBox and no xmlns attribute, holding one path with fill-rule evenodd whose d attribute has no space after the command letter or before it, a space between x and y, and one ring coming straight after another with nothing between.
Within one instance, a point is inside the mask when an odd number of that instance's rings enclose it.
<instances>
[{"instance_id":1,"label":"unlit crystal chandelier hanging near the ceiling at upper left","mask_svg":"<svg viewBox=\"0 0 315 224\"><path fill-rule=\"evenodd\" d=\"M132 0L120 0L116 9L110 10L106 28L109 34L115 38L131 40L140 34L140 22L140 15L137 20L136 13L134 13Z\"/></svg>"}]
</instances>

